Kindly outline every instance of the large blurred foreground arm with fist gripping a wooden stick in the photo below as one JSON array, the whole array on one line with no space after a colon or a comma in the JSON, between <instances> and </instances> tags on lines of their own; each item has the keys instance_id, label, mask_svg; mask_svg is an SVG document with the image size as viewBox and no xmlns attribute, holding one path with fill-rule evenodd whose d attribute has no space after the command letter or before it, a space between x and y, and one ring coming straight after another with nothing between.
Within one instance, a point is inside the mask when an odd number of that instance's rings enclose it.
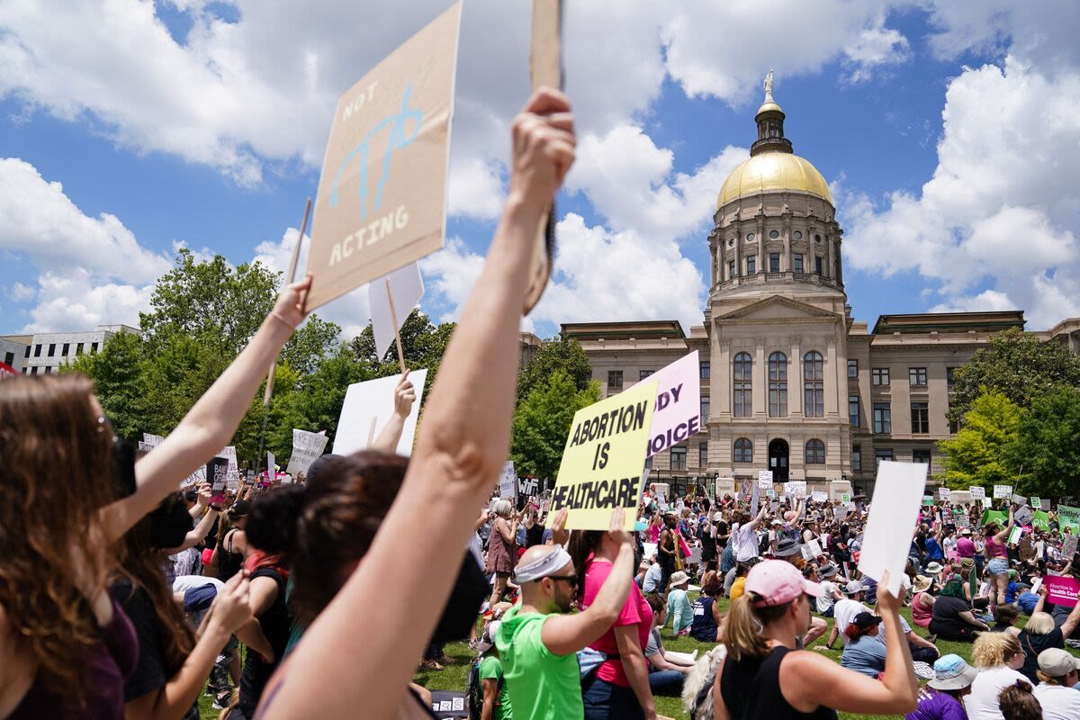
<instances>
[{"instance_id":1,"label":"large blurred foreground arm with fist gripping a wooden stick","mask_svg":"<svg viewBox=\"0 0 1080 720\"><path fill-rule=\"evenodd\" d=\"M397 499L364 561L297 646L287 677L264 694L266 720L348 717L357 707L366 717L389 718L401 706L461 566L473 511L507 460L537 228L573 146L566 96L536 93L514 120L507 205L440 367ZM410 531L418 505L437 508L422 533ZM406 533L410 540L402 543ZM630 569L625 574L629 581ZM376 607L409 612L363 611Z\"/></svg>"}]
</instances>

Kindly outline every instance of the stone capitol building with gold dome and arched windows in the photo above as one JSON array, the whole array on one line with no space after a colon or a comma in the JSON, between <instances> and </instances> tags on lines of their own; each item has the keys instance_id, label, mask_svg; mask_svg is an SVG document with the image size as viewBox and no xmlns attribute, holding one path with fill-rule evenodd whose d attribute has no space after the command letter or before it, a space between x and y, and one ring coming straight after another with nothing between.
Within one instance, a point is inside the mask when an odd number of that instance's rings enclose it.
<instances>
[{"instance_id":1,"label":"stone capitol building with gold dome and arched windows","mask_svg":"<svg viewBox=\"0 0 1080 720\"><path fill-rule=\"evenodd\" d=\"M770 73L771 74L771 73ZM691 350L701 358L703 430L652 459L661 479L697 475L852 480L873 487L881 459L929 462L949 437L953 371L1023 311L882 315L872 329L843 290L843 231L828 184L785 136L766 81L751 158L719 188L708 234L704 323L563 325L604 394ZM1080 352L1080 318L1045 332ZM819 485L820 484L820 485Z\"/></svg>"}]
</instances>

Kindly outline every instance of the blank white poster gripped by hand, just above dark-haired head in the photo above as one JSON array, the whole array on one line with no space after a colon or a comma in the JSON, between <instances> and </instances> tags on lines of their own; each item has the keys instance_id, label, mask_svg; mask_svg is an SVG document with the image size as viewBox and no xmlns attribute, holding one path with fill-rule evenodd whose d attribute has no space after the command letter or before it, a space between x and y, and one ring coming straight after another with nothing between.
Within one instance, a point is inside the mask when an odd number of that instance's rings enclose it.
<instances>
[{"instance_id":1,"label":"blank white poster gripped by hand, just above dark-haired head","mask_svg":"<svg viewBox=\"0 0 1080 720\"><path fill-rule=\"evenodd\" d=\"M349 385L334 436L335 454L350 454L372 446L394 413L394 389L401 378L401 375L392 375ZM413 439L416 436L416 422L420 417L428 370L413 370L408 378L416 388L416 400L405 419L401 440L397 441L397 454L405 457L413 454Z\"/></svg>"}]
</instances>

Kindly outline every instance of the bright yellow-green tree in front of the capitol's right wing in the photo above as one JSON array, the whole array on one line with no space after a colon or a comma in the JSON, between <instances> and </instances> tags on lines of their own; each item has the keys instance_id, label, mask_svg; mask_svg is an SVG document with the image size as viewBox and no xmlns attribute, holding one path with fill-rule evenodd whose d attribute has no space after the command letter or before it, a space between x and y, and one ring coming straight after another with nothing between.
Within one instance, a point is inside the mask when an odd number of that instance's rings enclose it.
<instances>
[{"instance_id":1,"label":"bright yellow-green tree in front of the capitol's right wing","mask_svg":"<svg viewBox=\"0 0 1080 720\"><path fill-rule=\"evenodd\" d=\"M1017 468L1005 448L1016 439L1022 415L1004 393L990 391L976 397L960 432L937 444L945 453L945 472L939 479L953 489L1013 485Z\"/></svg>"}]
</instances>

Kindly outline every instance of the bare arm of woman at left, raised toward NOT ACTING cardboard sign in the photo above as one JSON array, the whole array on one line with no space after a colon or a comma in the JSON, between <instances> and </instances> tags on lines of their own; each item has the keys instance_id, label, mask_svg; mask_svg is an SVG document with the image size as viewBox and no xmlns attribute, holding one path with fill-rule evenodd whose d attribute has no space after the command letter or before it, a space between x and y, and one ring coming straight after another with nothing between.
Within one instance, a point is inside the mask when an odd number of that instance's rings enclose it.
<instances>
[{"instance_id":1,"label":"bare arm of woman at left, raised toward NOT ACTING cardboard sign","mask_svg":"<svg viewBox=\"0 0 1080 720\"><path fill-rule=\"evenodd\" d=\"M180 480L220 451L243 420L267 367L303 322L311 275L293 283L278 298L258 332L211 389L199 398L161 445L135 463L135 493L105 507L107 538L114 541L152 511Z\"/></svg>"}]
</instances>

